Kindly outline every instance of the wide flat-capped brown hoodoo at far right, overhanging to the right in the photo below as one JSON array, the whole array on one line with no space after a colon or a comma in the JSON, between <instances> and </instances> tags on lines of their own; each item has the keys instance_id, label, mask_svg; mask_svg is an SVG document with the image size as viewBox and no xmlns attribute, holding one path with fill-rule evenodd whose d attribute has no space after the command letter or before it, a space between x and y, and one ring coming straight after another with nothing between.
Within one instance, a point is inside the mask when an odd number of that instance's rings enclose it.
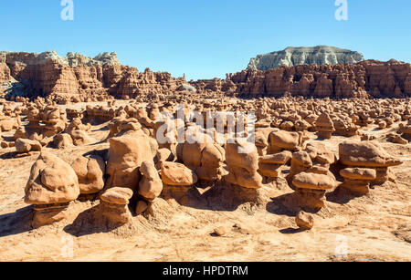
<instances>
[{"instance_id":1,"label":"wide flat-capped brown hoodoo at far right, overhanging to the right","mask_svg":"<svg viewBox=\"0 0 411 280\"><path fill-rule=\"evenodd\" d=\"M371 181L373 184L395 181L395 174L389 167L403 163L387 154L379 143L374 141L345 141L339 145L339 153L342 165L376 171L376 177Z\"/></svg>"}]
</instances>

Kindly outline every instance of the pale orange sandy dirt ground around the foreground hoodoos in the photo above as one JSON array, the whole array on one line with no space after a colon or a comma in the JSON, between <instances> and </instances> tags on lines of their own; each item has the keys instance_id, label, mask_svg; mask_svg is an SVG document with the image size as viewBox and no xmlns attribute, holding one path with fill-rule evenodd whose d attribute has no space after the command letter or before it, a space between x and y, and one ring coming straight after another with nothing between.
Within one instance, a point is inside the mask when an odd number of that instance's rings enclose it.
<instances>
[{"instance_id":1,"label":"pale orange sandy dirt ground around the foreground hoodoos","mask_svg":"<svg viewBox=\"0 0 411 280\"><path fill-rule=\"evenodd\" d=\"M284 205L293 191L281 180L258 191L257 202L244 202L232 186L197 186L182 204L159 198L153 214L114 229L90 221L98 201L72 202L68 219L32 229L32 206L23 198L38 153L15 158L14 149L0 150L0 261L411 261L411 145L386 142L388 130L367 128L404 161L393 168L396 183L364 197L328 193L310 232L297 229L298 209ZM71 163L108 149L108 134L105 124L93 126L95 143L52 151ZM337 154L342 140L323 142ZM213 234L218 226L226 227L225 236Z\"/></svg>"}]
</instances>

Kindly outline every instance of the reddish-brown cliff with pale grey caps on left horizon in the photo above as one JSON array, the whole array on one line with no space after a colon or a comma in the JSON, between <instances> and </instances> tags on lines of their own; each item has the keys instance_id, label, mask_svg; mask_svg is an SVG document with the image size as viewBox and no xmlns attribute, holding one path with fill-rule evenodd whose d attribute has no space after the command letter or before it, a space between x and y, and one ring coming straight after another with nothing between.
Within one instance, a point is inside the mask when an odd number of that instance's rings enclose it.
<instances>
[{"instance_id":1,"label":"reddish-brown cliff with pale grey caps on left horizon","mask_svg":"<svg viewBox=\"0 0 411 280\"><path fill-rule=\"evenodd\" d=\"M17 92L12 81L24 89ZM0 53L0 83L5 84L3 90L9 96L47 96L59 102L103 99L109 94L128 99L173 91L184 81L149 68L140 73L135 67L121 65L115 53L94 58L78 53L68 53L67 57L59 57L55 52Z\"/></svg>"}]
</instances>

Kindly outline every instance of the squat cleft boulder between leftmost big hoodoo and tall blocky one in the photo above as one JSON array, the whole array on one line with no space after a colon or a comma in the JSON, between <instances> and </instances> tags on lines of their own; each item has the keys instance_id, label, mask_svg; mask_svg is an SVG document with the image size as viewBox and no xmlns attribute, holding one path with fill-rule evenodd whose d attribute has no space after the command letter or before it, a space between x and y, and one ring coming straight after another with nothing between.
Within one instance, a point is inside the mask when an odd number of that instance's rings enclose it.
<instances>
[{"instance_id":1,"label":"squat cleft boulder between leftmost big hoodoo and tall blocky one","mask_svg":"<svg viewBox=\"0 0 411 280\"><path fill-rule=\"evenodd\" d=\"M81 194L97 193L104 188L106 163L100 156L79 157L71 167L79 178Z\"/></svg>"}]
</instances>

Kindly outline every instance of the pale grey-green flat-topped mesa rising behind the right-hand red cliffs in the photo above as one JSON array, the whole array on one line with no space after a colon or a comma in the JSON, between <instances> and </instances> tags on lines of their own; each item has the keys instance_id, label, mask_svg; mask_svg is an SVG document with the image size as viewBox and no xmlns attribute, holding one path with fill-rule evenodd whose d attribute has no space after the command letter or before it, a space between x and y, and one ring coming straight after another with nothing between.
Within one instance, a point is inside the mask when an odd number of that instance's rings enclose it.
<instances>
[{"instance_id":1,"label":"pale grey-green flat-topped mesa rising behind the right-hand red cliffs","mask_svg":"<svg viewBox=\"0 0 411 280\"><path fill-rule=\"evenodd\" d=\"M287 47L284 50L251 58L248 69L268 70L280 66L302 64L336 65L355 64L364 61L358 52L338 47Z\"/></svg>"}]
</instances>

